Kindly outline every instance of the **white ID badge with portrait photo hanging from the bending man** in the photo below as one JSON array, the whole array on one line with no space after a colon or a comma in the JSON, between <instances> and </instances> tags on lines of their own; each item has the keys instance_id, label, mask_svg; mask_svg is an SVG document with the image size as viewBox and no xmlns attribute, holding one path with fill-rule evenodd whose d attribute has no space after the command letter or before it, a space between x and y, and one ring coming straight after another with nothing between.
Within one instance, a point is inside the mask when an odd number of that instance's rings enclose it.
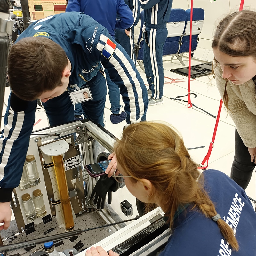
<instances>
[{"instance_id":1,"label":"white ID badge with portrait photo hanging from the bending man","mask_svg":"<svg viewBox=\"0 0 256 256\"><path fill-rule=\"evenodd\" d=\"M73 105L82 103L82 102L85 102L88 100L92 100L92 93L91 93L89 85L85 85L81 88L79 88L78 86L74 86L74 85L73 85L73 87L75 87L75 89L68 90L69 97L70 97Z\"/></svg>"}]
</instances>

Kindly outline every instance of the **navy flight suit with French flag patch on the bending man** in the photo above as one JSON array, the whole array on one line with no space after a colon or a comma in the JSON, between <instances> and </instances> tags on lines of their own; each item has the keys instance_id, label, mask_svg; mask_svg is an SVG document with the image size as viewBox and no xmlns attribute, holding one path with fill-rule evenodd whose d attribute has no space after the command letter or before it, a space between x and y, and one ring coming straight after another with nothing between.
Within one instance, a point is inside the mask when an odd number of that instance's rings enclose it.
<instances>
[{"instance_id":1,"label":"navy flight suit with French flag patch on the bending man","mask_svg":"<svg viewBox=\"0 0 256 256\"><path fill-rule=\"evenodd\" d=\"M131 58L106 28L83 13L61 13L31 24L16 43L24 37L36 36L53 40L66 52L72 66L68 90L74 84L78 87L89 85L93 99L82 103L85 117L104 125L107 90L102 64L120 88L127 124L146 119L146 86ZM74 105L68 91L43 104L51 126L74 120ZM5 127L0 137L0 202L11 201L13 188L20 183L36 106L37 100L25 101L14 93L10 94Z\"/></svg>"}]
</instances>

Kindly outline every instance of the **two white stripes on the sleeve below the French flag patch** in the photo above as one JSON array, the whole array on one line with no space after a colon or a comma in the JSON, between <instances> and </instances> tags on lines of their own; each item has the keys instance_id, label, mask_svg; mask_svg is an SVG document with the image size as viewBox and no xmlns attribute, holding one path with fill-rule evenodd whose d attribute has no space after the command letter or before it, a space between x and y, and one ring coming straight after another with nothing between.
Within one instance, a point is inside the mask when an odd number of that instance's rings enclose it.
<instances>
[{"instance_id":1,"label":"two white stripes on the sleeve below the French flag patch","mask_svg":"<svg viewBox=\"0 0 256 256\"><path fill-rule=\"evenodd\" d=\"M115 50L116 56L121 59L121 61L124 63L125 67L127 68L127 71L129 72L129 75L132 77L132 81L135 84L136 92L138 94L138 107L140 109L140 118L137 120L137 122L141 121L141 117L143 116L145 109L144 109L144 101L142 98L142 89L140 87L140 82L136 77L136 72L133 70L130 62L126 59L123 52L121 52L118 48ZM112 56L109 59L109 62L114 66L116 71L118 72L119 76L123 79L124 85L127 88L128 97L130 99L130 120L131 123L134 123L136 121L136 102L135 102L135 95L133 93L133 88L131 86L131 82L129 80L129 77L125 73L124 69L121 67L120 63L116 58Z\"/></svg>"}]
</instances>

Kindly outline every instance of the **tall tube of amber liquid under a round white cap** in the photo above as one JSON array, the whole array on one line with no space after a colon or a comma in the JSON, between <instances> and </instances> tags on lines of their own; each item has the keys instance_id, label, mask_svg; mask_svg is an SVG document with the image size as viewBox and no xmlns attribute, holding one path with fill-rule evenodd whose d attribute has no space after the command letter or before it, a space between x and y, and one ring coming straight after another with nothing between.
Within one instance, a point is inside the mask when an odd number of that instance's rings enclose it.
<instances>
[{"instance_id":1,"label":"tall tube of amber liquid under a round white cap","mask_svg":"<svg viewBox=\"0 0 256 256\"><path fill-rule=\"evenodd\" d=\"M65 175L63 157L60 156L52 156L54 169L56 173L56 179L58 183L59 193L60 193L60 202L63 210L65 226L67 230L72 230L74 225L71 203L68 194L68 184Z\"/></svg>"}]
</instances>

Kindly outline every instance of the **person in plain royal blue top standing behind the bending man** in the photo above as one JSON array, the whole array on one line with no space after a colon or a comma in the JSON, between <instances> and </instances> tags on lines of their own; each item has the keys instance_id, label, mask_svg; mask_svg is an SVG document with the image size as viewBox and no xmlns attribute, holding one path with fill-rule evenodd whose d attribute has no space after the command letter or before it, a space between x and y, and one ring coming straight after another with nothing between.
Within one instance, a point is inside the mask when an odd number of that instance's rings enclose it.
<instances>
[{"instance_id":1,"label":"person in plain royal blue top standing behind the bending man","mask_svg":"<svg viewBox=\"0 0 256 256\"><path fill-rule=\"evenodd\" d=\"M115 29L131 28L133 24L132 11L124 3L124 0L69 0L66 12L84 12L108 29L109 34L114 38ZM116 16L119 19L116 19ZM106 71L109 100L111 103L112 123L120 123L126 118L126 113L122 111L120 105L120 90L113 83ZM79 110L80 109L80 110ZM75 106L75 115L81 115L80 104Z\"/></svg>"}]
</instances>

